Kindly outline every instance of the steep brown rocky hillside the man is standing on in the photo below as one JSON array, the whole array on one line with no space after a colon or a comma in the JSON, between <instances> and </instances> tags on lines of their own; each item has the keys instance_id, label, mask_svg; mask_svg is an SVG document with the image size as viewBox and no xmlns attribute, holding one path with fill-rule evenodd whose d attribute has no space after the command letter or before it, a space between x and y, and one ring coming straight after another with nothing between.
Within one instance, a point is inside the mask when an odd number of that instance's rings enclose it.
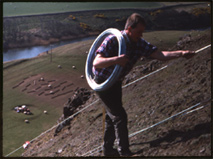
<instances>
[{"instance_id":1,"label":"steep brown rocky hillside the man is standing on","mask_svg":"<svg viewBox=\"0 0 213 159\"><path fill-rule=\"evenodd\" d=\"M182 49L197 50L210 43L209 33L182 43ZM178 48L179 45L176 45L171 49ZM165 65L168 67L164 70L123 88L123 106L128 114L129 134L196 104L195 109L199 109L187 111L130 137L130 149L137 156L211 156L211 49L191 59L145 61L144 65L138 65L131 71L124 85ZM41 135L30 143L22 156L102 156L101 151L87 153L102 144L103 110L102 103L97 100L93 93L78 108L85 110L77 114L69 126L56 136L55 129Z\"/></svg>"}]
</instances>

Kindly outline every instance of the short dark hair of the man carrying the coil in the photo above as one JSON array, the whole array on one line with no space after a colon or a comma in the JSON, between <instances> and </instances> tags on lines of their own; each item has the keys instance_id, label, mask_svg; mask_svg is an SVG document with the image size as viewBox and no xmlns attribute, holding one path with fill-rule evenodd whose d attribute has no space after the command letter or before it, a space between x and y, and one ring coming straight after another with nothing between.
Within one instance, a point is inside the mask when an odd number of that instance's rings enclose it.
<instances>
[{"instance_id":1,"label":"short dark hair of the man carrying the coil","mask_svg":"<svg viewBox=\"0 0 213 159\"><path fill-rule=\"evenodd\" d=\"M126 30L129 26L131 28L135 28L137 26L137 24L139 24L139 23L146 26L146 22L145 22L144 18L138 13L133 13L132 15L130 15L128 17L124 29Z\"/></svg>"}]
</instances>

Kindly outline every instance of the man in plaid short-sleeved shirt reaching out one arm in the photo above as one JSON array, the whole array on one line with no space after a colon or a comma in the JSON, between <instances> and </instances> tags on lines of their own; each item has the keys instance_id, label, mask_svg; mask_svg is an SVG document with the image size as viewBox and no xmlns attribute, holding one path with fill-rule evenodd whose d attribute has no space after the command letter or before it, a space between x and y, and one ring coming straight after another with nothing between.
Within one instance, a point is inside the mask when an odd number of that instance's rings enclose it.
<instances>
[{"instance_id":1,"label":"man in plaid short-sleeved shirt reaching out one arm","mask_svg":"<svg viewBox=\"0 0 213 159\"><path fill-rule=\"evenodd\" d=\"M142 56L162 61L179 57L192 57L194 51L160 51L156 46L142 38L145 20L134 13L126 21L121 31L126 41L126 54L118 56L118 41L115 35L109 35L96 51L93 61L93 73L97 83L104 82L112 73L116 64L123 67L119 79L109 89L98 91L106 109L106 126L104 134L104 156L132 156L129 149L127 114L122 106L122 80ZM114 141L118 141L118 149L114 149Z\"/></svg>"}]
</instances>

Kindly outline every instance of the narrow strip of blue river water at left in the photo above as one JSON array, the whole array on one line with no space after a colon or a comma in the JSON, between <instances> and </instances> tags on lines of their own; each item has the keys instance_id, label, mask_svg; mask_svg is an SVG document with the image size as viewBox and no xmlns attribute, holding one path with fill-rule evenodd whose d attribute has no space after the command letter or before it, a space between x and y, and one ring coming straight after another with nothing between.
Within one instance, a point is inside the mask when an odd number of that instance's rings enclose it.
<instances>
[{"instance_id":1,"label":"narrow strip of blue river water at left","mask_svg":"<svg viewBox=\"0 0 213 159\"><path fill-rule=\"evenodd\" d=\"M95 36L86 37L86 38L79 38L76 40L70 41L61 41L59 43L54 43L46 46L34 46L28 48L19 48L19 49L10 49L7 52L3 52L3 62L18 60L18 59L26 59L26 58L33 58L38 56L42 52L46 52L51 50L51 48L56 48L62 45L71 44L75 42L85 41L95 39Z\"/></svg>"}]
</instances>

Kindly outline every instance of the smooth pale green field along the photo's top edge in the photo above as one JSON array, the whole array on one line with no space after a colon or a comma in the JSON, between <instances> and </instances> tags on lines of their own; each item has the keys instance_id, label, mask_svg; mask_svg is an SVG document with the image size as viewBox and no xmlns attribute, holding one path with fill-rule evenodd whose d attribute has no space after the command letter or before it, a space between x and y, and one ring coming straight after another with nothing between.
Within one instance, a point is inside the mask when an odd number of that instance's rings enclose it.
<instances>
[{"instance_id":1,"label":"smooth pale green field along the photo's top edge","mask_svg":"<svg viewBox=\"0 0 213 159\"><path fill-rule=\"evenodd\" d=\"M160 6L161 4L158 2L4 2L3 16Z\"/></svg>"}]
</instances>

